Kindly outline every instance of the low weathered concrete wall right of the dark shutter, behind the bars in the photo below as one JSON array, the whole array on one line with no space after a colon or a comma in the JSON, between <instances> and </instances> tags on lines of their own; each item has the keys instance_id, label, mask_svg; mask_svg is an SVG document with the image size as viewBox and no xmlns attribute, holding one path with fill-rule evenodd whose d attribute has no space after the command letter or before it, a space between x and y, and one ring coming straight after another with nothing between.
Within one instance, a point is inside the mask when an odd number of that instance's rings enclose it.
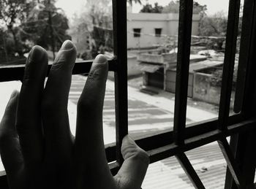
<instances>
[{"instance_id":1,"label":"low weathered concrete wall right of the dark shutter, behind the bars","mask_svg":"<svg viewBox=\"0 0 256 189\"><path fill-rule=\"evenodd\" d=\"M209 80L213 76L211 74L195 73L193 99L206 101L211 104L219 104L221 88L220 86L212 85ZM235 91L231 93L230 107L233 107L235 100Z\"/></svg>"}]
</instances>

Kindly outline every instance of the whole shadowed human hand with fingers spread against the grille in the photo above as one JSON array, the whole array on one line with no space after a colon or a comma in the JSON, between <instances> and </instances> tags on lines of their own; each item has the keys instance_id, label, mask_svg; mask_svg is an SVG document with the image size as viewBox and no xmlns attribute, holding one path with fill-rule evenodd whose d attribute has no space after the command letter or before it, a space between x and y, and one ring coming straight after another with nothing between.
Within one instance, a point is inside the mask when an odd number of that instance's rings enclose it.
<instances>
[{"instance_id":1,"label":"whole shadowed human hand with fingers spread against the grille","mask_svg":"<svg viewBox=\"0 0 256 189\"><path fill-rule=\"evenodd\" d=\"M78 101L76 135L69 128L67 102L76 48L66 41L44 87L48 55L33 47L20 93L12 93L0 123L0 153L10 189L140 188L148 155L125 136L124 163L112 176L105 155L102 109L108 61L98 55Z\"/></svg>"}]
</instances>

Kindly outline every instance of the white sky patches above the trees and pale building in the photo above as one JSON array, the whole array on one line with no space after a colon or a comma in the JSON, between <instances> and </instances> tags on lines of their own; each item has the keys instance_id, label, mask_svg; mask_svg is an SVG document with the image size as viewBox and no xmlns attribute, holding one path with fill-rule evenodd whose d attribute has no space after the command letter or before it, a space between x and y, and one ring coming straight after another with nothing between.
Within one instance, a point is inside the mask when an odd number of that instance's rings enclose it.
<instances>
[{"instance_id":1,"label":"white sky patches above the trees and pale building","mask_svg":"<svg viewBox=\"0 0 256 189\"><path fill-rule=\"evenodd\" d=\"M154 4L158 2L159 5L165 6L167 5L170 0L148 0L149 4ZM200 4L206 4L208 8L208 15L213 15L215 12L224 11L227 12L228 9L228 2L229 0L197 0ZM146 0L142 0L143 4L146 4ZM77 12L78 15L80 11L86 4L86 0L58 0L56 2L56 7L61 7L66 12L69 18ZM142 5L140 4L133 4L132 12L139 12Z\"/></svg>"}]
</instances>

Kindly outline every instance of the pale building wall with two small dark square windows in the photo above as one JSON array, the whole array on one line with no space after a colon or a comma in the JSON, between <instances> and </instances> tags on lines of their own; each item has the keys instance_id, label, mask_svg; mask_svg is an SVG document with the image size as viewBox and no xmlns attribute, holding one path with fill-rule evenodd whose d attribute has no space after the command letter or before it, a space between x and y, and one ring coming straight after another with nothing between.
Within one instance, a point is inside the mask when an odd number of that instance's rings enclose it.
<instances>
[{"instance_id":1,"label":"pale building wall with two small dark square windows","mask_svg":"<svg viewBox=\"0 0 256 189\"><path fill-rule=\"evenodd\" d=\"M192 35L198 34L199 15L193 15ZM133 36L133 28L141 28L140 37ZM178 14L127 13L128 48L152 47L165 42L164 36L155 36L155 28L162 28L162 35L178 35Z\"/></svg>"}]
</instances>

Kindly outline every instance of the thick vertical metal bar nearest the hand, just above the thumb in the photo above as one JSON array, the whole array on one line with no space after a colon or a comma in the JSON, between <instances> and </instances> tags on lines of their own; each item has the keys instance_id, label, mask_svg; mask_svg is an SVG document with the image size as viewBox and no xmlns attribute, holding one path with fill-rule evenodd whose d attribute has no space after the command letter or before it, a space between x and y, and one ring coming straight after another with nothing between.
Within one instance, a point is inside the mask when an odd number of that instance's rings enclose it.
<instances>
[{"instance_id":1,"label":"thick vertical metal bar nearest the hand, just above the thumb","mask_svg":"<svg viewBox=\"0 0 256 189\"><path fill-rule=\"evenodd\" d=\"M114 55L117 58L115 72L116 103L116 158L122 163L121 141L128 134L127 101L127 1L113 0Z\"/></svg>"}]
</instances>

